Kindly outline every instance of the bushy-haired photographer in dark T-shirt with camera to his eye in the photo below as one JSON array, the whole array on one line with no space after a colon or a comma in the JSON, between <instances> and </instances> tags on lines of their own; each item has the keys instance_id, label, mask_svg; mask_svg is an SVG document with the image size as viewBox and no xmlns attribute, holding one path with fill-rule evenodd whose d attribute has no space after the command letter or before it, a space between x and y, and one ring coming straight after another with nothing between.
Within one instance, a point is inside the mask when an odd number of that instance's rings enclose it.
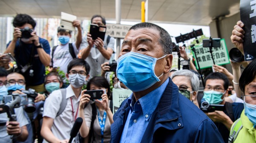
<instances>
[{"instance_id":1,"label":"bushy-haired photographer in dark T-shirt with camera to his eye","mask_svg":"<svg viewBox=\"0 0 256 143\"><path fill-rule=\"evenodd\" d=\"M27 89L44 92L45 66L50 64L50 47L35 30L36 22L27 14L17 14L12 22L13 39L5 53L12 53L17 60L19 73L26 79Z\"/></svg>"}]
</instances>

